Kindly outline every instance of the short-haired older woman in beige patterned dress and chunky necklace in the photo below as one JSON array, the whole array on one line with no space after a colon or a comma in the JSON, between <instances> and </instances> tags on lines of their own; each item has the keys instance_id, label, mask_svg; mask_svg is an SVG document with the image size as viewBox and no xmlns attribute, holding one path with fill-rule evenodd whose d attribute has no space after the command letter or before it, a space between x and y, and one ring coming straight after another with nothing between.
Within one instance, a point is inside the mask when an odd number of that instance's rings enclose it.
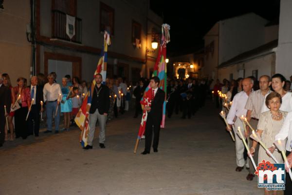
<instances>
[{"instance_id":1,"label":"short-haired older woman in beige patterned dress and chunky necklace","mask_svg":"<svg viewBox=\"0 0 292 195\"><path fill-rule=\"evenodd\" d=\"M275 147L273 145L274 137L280 132L280 129L283 125L284 119L287 116L287 112L281 111L280 106L282 103L281 95L272 92L270 93L265 100L265 106L270 109L267 112L261 113L257 125L257 133L260 137L262 137L262 142L266 146L270 146L269 150L274 154L275 158L279 161L279 163L283 163L283 158L281 153L278 151L274 151ZM253 155L255 153L257 142L253 141L253 147L250 148L250 153ZM258 152L258 162L262 160L270 161L271 163L275 163L273 158L270 157L266 150L263 147L259 148ZM268 195L269 191L265 189L265 195ZM273 195L276 195L276 191L273 192Z\"/></svg>"}]
</instances>

